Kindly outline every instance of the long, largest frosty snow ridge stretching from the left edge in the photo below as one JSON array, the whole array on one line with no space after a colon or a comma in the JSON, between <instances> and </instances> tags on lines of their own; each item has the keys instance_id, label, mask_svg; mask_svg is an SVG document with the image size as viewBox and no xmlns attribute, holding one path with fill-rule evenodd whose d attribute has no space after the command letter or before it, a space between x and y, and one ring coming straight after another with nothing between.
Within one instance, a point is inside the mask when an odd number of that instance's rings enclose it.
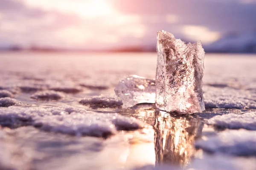
<instances>
[{"instance_id":1,"label":"long, largest frosty snow ridge stretching from the left edge","mask_svg":"<svg viewBox=\"0 0 256 170\"><path fill-rule=\"evenodd\" d=\"M143 123L133 117L117 113L92 113L72 107L0 108L0 124L8 127L33 125L51 132L99 137L113 135L117 130L136 130L144 127Z\"/></svg>"}]
</instances>

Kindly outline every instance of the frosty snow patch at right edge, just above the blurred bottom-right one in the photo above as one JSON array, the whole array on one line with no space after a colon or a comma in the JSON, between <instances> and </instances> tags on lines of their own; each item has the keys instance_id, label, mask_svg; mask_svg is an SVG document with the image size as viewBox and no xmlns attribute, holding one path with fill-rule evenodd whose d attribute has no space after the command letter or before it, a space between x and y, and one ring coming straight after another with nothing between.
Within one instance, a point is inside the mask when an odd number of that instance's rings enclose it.
<instances>
[{"instance_id":1,"label":"frosty snow patch at right edge, just above the blurred bottom-right one","mask_svg":"<svg viewBox=\"0 0 256 170\"><path fill-rule=\"evenodd\" d=\"M207 121L217 127L228 129L247 129L256 130L256 112L247 112L244 114L229 113L227 115L217 115Z\"/></svg>"}]
</instances>

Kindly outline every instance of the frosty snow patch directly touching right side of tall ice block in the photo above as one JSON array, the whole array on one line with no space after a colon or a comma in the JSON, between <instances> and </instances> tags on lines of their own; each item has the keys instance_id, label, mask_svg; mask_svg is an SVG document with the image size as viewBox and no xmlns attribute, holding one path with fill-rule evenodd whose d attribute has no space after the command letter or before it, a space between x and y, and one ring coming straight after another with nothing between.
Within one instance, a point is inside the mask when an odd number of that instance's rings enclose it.
<instances>
[{"instance_id":1,"label":"frosty snow patch directly touching right side of tall ice block","mask_svg":"<svg viewBox=\"0 0 256 170\"><path fill-rule=\"evenodd\" d=\"M243 89L204 86L205 107L256 109L256 95Z\"/></svg>"}]
</instances>

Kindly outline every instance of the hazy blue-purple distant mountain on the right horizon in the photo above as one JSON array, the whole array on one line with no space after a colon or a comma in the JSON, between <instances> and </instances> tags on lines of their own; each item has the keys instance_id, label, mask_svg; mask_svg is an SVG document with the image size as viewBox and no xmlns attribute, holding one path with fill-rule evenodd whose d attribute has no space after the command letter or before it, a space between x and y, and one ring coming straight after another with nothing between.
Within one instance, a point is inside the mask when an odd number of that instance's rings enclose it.
<instances>
[{"instance_id":1,"label":"hazy blue-purple distant mountain on the right horizon","mask_svg":"<svg viewBox=\"0 0 256 170\"><path fill-rule=\"evenodd\" d=\"M256 32L230 33L204 48L206 52L256 53Z\"/></svg>"}]
</instances>

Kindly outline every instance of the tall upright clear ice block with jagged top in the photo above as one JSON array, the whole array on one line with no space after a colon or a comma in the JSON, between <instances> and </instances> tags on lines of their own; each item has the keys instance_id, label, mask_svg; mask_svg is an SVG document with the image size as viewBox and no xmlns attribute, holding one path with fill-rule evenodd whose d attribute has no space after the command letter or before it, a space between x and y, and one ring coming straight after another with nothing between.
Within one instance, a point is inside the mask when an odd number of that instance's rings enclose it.
<instances>
[{"instance_id":1,"label":"tall upright clear ice block with jagged top","mask_svg":"<svg viewBox=\"0 0 256 170\"><path fill-rule=\"evenodd\" d=\"M168 112L204 111L201 42L184 43L166 31L157 32L156 106Z\"/></svg>"}]
</instances>

